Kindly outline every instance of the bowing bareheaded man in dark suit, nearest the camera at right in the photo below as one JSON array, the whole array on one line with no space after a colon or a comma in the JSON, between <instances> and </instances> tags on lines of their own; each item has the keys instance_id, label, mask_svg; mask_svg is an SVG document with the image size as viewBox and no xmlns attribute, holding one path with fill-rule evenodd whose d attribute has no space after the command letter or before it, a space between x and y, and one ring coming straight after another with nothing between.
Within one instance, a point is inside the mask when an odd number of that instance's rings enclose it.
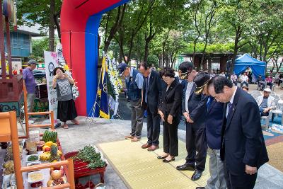
<instances>
[{"instance_id":1,"label":"bowing bareheaded man in dark suit, nearest the camera at right","mask_svg":"<svg viewBox=\"0 0 283 189\"><path fill-rule=\"evenodd\" d=\"M227 187L253 188L258 168L268 161L258 104L225 77L215 78L208 91L216 101L226 103L220 154L225 160Z\"/></svg>"}]
</instances>

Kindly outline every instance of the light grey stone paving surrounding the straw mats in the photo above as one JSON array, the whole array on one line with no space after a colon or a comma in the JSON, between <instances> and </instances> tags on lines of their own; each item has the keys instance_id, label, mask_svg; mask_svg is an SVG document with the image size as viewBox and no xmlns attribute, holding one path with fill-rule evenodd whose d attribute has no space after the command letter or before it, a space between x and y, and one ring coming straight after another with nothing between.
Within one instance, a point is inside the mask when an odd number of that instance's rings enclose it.
<instances>
[{"instance_id":1,"label":"light grey stone paving surrounding the straw mats","mask_svg":"<svg viewBox=\"0 0 283 189\"><path fill-rule=\"evenodd\" d=\"M115 142L124 139L129 134L130 122L125 120L103 120L96 119L96 122L86 122L85 117L79 118L81 125L69 125L68 130L58 128L59 139L62 143L64 153L81 149L87 144L100 144L105 142ZM163 130L161 127L161 134ZM178 131L179 139L185 142L185 131ZM146 124L142 132L142 137L146 137ZM162 141L161 141L162 142ZM127 156L127 154L125 154ZM122 157L121 157L122 158ZM89 178L85 178L82 183L86 183ZM98 176L91 179L98 183ZM255 188L283 188L283 173L276 168L265 164L258 173L258 180ZM108 165L105 173L106 188L127 188L121 178L113 168Z\"/></svg>"}]
</instances>

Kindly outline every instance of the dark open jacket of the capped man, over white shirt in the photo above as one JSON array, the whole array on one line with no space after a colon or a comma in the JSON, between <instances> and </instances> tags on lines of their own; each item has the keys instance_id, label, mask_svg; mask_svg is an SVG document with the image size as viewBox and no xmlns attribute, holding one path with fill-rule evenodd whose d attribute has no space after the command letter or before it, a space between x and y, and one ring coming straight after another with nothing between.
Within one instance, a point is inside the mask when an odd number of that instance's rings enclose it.
<instances>
[{"instance_id":1,"label":"dark open jacket of the capped man, over white shirt","mask_svg":"<svg viewBox=\"0 0 283 189\"><path fill-rule=\"evenodd\" d=\"M192 86L190 94L186 94L187 86L184 88L183 100L182 100L182 113L185 113L185 103L189 110L190 118L194 121L192 127L205 128L205 120L207 115L207 96L204 94L195 94L195 84ZM185 101L185 96L190 95L189 101Z\"/></svg>"}]
</instances>

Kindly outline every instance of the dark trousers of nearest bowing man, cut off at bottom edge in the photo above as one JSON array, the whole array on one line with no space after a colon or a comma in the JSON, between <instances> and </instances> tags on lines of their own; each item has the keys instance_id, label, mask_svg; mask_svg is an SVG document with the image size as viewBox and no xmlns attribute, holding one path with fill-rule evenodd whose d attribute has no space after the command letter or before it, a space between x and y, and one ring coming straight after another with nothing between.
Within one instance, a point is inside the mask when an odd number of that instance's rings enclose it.
<instances>
[{"instance_id":1,"label":"dark trousers of nearest bowing man, cut off at bottom edge","mask_svg":"<svg viewBox=\"0 0 283 189\"><path fill-rule=\"evenodd\" d=\"M224 162L224 177L228 189L253 189L257 176L258 173L249 175L246 172L242 173L241 176L235 176L229 172L226 162Z\"/></svg>"}]
</instances>

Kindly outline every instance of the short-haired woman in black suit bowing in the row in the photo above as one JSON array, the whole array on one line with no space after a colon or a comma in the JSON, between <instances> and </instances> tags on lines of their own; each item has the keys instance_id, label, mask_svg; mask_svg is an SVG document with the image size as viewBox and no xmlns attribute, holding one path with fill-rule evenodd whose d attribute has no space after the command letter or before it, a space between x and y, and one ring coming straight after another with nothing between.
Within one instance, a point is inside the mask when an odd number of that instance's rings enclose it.
<instances>
[{"instance_id":1,"label":"short-haired woman in black suit bowing in the row","mask_svg":"<svg viewBox=\"0 0 283 189\"><path fill-rule=\"evenodd\" d=\"M175 80L175 72L171 67L161 69L160 76L166 87L163 88L161 102L158 105L158 113L163 120L163 154L157 159L163 159L163 162L168 163L178 156L178 125L183 86Z\"/></svg>"}]
</instances>

